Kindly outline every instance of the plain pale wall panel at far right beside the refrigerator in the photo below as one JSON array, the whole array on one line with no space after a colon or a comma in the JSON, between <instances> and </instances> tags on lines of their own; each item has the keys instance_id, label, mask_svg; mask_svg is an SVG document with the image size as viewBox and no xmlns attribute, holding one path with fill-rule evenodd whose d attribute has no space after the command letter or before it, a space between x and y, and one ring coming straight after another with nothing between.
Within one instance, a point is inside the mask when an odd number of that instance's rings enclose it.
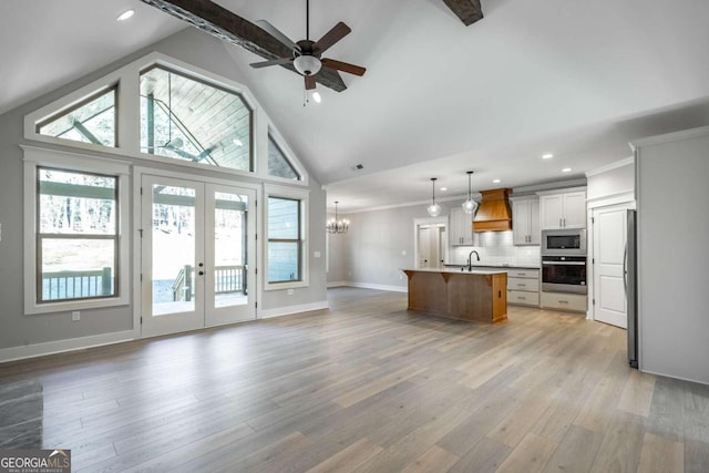
<instances>
[{"instance_id":1,"label":"plain pale wall panel at far right beside the refrigerator","mask_svg":"<svg viewBox=\"0 0 709 473\"><path fill-rule=\"evenodd\" d=\"M709 383L709 128L636 144L640 369Z\"/></svg>"}]
</instances>

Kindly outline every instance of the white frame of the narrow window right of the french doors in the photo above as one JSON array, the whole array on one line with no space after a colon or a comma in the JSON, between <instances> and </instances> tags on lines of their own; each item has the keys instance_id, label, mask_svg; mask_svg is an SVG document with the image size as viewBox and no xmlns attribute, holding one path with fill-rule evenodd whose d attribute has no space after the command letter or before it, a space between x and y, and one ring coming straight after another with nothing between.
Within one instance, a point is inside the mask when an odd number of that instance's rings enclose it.
<instances>
[{"instance_id":1,"label":"white frame of the narrow window right of the french doors","mask_svg":"<svg viewBox=\"0 0 709 473\"><path fill-rule=\"evenodd\" d=\"M300 258L302 271L301 279L297 281L287 282L269 282L268 281L268 198L290 198L300 200ZM310 222L309 207L310 207L310 191L299 189L286 186L277 186L265 184L264 185L264 238L259 238L264 241L263 255L264 255L264 271L263 271L263 288L264 290L282 290L292 289L299 287L310 286L310 268L308 265L309 255L309 238L308 238L308 224Z\"/></svg>"}]
</instances>

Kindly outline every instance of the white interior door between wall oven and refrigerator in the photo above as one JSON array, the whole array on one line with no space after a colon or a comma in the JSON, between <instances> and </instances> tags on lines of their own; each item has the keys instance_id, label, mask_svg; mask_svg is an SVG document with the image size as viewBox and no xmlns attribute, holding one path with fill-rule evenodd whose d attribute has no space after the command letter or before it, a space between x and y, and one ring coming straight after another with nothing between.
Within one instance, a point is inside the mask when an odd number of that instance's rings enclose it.
<instances>
[{"instance_id":1,"label":"white interior door between wall oven and refrigerator","mask_svg":"<svg viewBox=\"0 0 709 473\"><path fill-rule=\"evenodd\" d=\"M627 304L623 281L623 263L627 239L628 206L594 210L594 318L627 328Z\"/></svg>"}]
</instances>

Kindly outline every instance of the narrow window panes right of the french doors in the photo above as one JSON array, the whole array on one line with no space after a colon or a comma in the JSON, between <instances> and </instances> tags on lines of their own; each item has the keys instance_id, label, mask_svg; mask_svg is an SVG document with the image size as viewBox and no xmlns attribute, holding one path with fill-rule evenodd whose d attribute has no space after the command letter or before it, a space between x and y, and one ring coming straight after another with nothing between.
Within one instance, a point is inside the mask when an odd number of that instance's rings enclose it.
<instances>
[{"instance_id":1,"label":"narrow window panes right of the french doors","mask_svg":"<svg viewBox=\"0 0 709 473\"><path fill-rule=\"evenodd\" d=\"M268 197L268 282L302 280L301 202Z\"/></svg>"}]
</instances>

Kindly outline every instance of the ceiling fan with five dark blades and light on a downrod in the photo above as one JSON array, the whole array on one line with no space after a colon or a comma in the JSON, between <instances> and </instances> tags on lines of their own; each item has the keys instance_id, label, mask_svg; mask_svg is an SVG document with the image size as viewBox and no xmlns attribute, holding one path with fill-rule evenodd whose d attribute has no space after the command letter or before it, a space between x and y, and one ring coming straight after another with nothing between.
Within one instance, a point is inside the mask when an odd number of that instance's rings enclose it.
<instances>
[{"instance_id":1,"label":"ceiling fan with five dark blades and light on a downrod","mask_svg":"<svg viewBox=\"0 0 709 473\"><path fill-rule=\"evenodd\" d=\"M336 71L348 72L354 75L364 75L367 71L359 65L349 64L347 62L336 61L333 59L322 58L322 53L330 49L335 43L340 41L352 30L343 22L338 22L330 31L325 33L318 41L310 40L310 0L306 0L306 39L298 42L291 41L287 35L280 32L276 27L266 20L258 20L256 24L264 31L271 34L279 42L288 47L291 55L273 59L269 61L255 62L251 68L266 68L268 65L282 65L292 62L292 66L298 73L305 76L306 90L316 88L316 74L321 68L333 69Z\"/></svg>"}]
</instances>

